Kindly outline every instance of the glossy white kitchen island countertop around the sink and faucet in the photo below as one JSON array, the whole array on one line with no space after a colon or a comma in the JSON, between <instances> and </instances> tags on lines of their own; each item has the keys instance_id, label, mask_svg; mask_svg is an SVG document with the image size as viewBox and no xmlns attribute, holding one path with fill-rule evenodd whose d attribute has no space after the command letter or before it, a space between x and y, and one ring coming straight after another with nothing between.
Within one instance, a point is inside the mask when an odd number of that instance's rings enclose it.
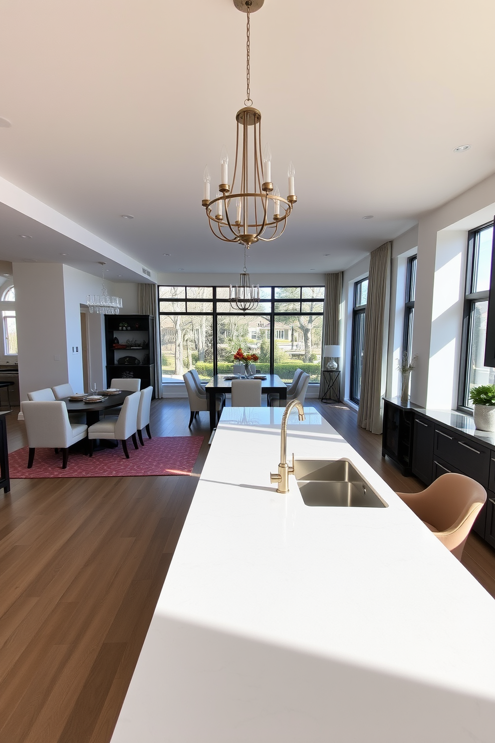
<instances>
[{"instance_id":1,"label":"glossy white kitchen island countertop around the sink and faucet","mask_svg":"<svg viewBox=\"0 0 495 743\"><path fill-rule=\"evenodd\" d=\"M282 413L223 410L112 743L492 743L495 601L315 409L388 507L277 493Z\"/></svg>"}]
</instances>

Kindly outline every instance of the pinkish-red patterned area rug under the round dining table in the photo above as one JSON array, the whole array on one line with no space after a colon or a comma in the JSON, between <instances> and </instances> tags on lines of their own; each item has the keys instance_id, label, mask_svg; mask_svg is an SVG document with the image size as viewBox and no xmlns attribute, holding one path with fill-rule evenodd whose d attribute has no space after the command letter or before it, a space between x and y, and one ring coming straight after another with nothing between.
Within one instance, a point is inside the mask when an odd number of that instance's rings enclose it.
<instances>
[{"instance_id":1,"label":"pinkish-red patterned area rug under the round dining table","mask_svg":"<svg viewBox=\"0 0 495 743\"><path fill-rule=\"evenodd\" d=\"M135 450L129 439L128 459L121 445L94 452L92 457L74 450L69 452L66 470L62 470L62 454L53 449L36 449L33 467L28 470L28 449L24 447L9 454L10 478L190 475L201 444L203 436L162 436L145 438L144 447Z\"/></svg>"}]
</instances>

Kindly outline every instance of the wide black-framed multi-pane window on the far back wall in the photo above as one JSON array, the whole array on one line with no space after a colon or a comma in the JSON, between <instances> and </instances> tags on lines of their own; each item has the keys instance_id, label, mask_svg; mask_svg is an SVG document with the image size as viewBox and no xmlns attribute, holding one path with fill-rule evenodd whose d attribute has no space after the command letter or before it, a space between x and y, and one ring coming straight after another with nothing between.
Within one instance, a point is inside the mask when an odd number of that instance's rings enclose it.
<instances>
[{"instance_id":1,"label":"wide black-framed multi-pane window on the far back wall","mask_svg":"<svg viewBox=\"0 0 495 743\"><path fill-rule=\"evenodd\" d=\"M319 382L324 287L260 287L251 312L233 310L229 287L160 286L162 377L182 382L232 371L237 348L258 354L257 369L292 380L298 367Z\"/></svg>"}]
</instances>

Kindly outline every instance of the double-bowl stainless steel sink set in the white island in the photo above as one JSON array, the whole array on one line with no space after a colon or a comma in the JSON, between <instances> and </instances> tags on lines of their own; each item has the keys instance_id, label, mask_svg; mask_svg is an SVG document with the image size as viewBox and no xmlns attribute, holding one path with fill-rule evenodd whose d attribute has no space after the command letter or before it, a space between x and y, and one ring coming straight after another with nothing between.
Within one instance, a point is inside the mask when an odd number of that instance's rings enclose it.
<instances>
[{"instance_id":1,"label":"double-bowl stainless steel sink set in the white island","mask_svg":"<svg viewBox=\"0 0 495 743\"><path fill-rule=\"evenodd\" d=\"M295 459L294 475L306 506L388 505L347 459Z\"/></svg>"}]
</instances>

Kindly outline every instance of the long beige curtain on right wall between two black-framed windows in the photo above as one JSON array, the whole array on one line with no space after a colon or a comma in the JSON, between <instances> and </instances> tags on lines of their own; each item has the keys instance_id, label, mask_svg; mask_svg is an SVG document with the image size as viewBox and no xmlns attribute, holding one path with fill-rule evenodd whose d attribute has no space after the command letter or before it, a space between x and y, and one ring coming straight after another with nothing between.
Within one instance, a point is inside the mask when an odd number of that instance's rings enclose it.
<instances>
[{"instance_id":1,"label":"long beige curtain on right wall between two black-framed windows","mask_svg":"<svg viewBox=\"0 0 495 743\"><path fill-rule=\"evenodd\" d=\"M358 424L372 433L381 433L387 381L391 249L392 243L386 242L370 255Z\"/></svg>"}]
</instances>

